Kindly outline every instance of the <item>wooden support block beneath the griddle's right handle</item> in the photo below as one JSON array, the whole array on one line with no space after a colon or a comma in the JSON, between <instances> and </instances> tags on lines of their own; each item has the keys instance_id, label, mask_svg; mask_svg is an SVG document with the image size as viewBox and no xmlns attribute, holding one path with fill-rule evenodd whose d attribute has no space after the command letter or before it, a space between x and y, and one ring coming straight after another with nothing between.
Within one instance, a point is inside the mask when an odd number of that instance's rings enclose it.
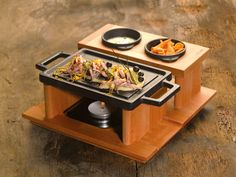
<instances>
[{"instance_id":1,"label":"wooden support block beneath the griddle's right handle","mask_svg":"<svg viewBox=\"0 0 236 177\"><path fill-rule=\"evenodd\" d=\"M167 91L162 88L152 95L153 98L159 98ZM141 104L131 111L122 112L122 140L125 145L130 145L140 140L152 128L156 128L166 115L167 104L161 107L148 104Z\"/></svg>"}]
</instances>

